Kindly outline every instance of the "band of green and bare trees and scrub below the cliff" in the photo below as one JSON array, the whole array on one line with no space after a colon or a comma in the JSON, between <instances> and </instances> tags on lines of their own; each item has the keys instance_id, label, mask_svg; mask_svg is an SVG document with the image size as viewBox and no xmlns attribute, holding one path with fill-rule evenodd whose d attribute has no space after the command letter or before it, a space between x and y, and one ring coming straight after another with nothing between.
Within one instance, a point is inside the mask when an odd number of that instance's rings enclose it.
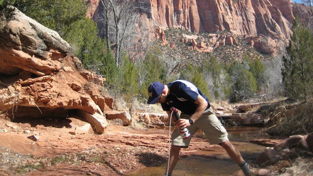
<instances>
[{"instance_id":1,"label":"band of green and bare trees and scrub below the cliff","mask_svg":"<svg viewBox=\"0 0 313 176\"><path fill-rule=\"evenodd\" d=\"M282 48L281 55L261 54L240 36L236 38L236 45L224 45L213 52L201 53L181 42L183 34L192 35L187 31L175 28L165 31L168 42L175 47L149 40L147 32L151 31L140 21L133 6L123 6L124 11L119 11L123 15L120 26L114 27L112 11L118 4L107 4L106 21L111 27L102 40L97 36L96 24L86 17L87 5L82 0L0 2L2 7L7 4L16 6L29 17L57 31L71 45L72 54L85 68L107 78L108 90L114 97L122 95L130 111L132 102L145 102L146 89L151 82L168 83L175 79L195 83L210 101L239 102L264 94L268 99L279 96L305 101L312 99L313 39L309 22L295 21L290 44ZM126 11L133 13L126 15ZM131 23L122 23L127 19ZM118 33L121 29L123 35ZM209 40L207 33L199 36L198 42ZM120 53L118 56L117 52Z\"/></svg>"}]
</instances>

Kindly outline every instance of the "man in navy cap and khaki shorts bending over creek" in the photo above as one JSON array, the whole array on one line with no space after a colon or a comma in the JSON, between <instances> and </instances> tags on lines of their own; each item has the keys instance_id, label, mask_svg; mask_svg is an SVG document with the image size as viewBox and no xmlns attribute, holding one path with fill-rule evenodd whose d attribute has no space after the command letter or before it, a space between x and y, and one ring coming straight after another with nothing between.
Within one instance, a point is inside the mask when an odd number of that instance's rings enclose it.
<instances>
[{"instance_id":1,"label":"man in navy cap and khaki shorts bending over creek","mask_svg":"<svg viewBox=\"0 0 313 176\"><path fill-rule=\"evenodd\" d=\"M201 93L199 88L188 81L177 80L167 85L160 82L152 83L148 88L148 104L160 103L162 109L171 116L171 107L181 111L177 121L179 128L187 128L192 136L201 129L210 144L219 144L227 154L240 166L246 176L251 174L246 161L239 151L230 143L224 126L216 117L208 98ZM179 130L172 133L172 146L168 159L168 168L164 176L171 176L179 159L180 148L187 148L191 137L182 139ZM168 171L168 172L167 172Z\"/></svg>"}]
</instances>

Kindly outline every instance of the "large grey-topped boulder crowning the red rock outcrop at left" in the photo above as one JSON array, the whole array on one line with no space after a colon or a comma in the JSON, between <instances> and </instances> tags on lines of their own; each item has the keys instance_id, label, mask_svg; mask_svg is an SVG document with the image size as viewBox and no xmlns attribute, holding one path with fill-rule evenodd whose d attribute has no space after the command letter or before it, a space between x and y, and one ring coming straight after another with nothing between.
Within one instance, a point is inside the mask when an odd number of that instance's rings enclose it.
<instances>
[{"instance_id":1,"label":"large grey-topped boulder crowning the red rock outcrop at left","mask_svg":"<svg viewBox=\"0 0 313 176\"><path fill-rule=\"evenodd\" d=\"M0 74L21 70L44 76L62 69L69 44L60 35L27 17L13 6L6 8L7 22L0 31Z\"/></svg>"}]
</instances>

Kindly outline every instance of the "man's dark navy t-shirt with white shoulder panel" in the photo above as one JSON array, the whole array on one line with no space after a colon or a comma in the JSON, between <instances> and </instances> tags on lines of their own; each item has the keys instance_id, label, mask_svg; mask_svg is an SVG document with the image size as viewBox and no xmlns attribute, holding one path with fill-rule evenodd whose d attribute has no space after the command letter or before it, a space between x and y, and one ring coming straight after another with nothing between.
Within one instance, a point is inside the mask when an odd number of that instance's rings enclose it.
<instances>
[{"instance_id":1,"label":"man's dark navy t-shirt with white shoulder panel","mask_svg":"<svg viewBox=\"0 0 313 176\"><path fill-rule=\"evenodd\" d=\"M177 80L167 84L170 89L170 94L166 98L165 103L161 103L162 109L169 111L171 107L174 107L186 114L195 113L198 105L195 103L198 95L201 95L208 103L210 108L210 102L208 98L201 93L199 88L188 81Z\"/></svg>"}]
</instances>

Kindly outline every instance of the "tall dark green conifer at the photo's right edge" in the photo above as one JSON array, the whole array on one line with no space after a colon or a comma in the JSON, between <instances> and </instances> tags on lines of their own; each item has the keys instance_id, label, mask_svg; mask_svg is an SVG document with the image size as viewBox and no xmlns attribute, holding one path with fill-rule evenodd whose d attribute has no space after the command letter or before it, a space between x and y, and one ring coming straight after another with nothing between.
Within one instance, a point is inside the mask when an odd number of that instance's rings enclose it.
<instances>
[{"instance_id":1,"label":"tall dark green conifer at the photo's right edge","mask_svg":"<svg viewBox=\"0 0 313 176\"><path fill-rule=\"evenodd\" d=\"M298 19L292 31L283 57L283 83L287 96L309 100L313 97L313 32Z\"/></svg>"}]
</instances>

